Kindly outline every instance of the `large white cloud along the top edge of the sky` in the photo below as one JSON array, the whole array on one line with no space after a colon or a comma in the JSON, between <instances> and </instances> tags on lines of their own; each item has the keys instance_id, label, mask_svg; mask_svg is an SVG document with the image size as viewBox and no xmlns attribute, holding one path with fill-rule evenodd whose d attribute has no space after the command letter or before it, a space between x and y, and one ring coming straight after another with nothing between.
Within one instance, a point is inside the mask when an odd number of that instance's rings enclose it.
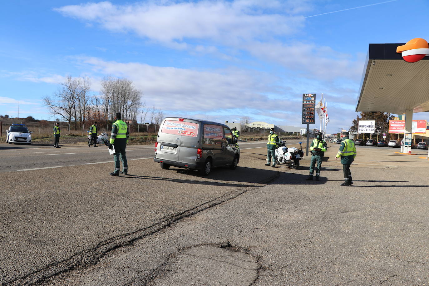
<instances>
[{"instance_id":1,"label":"large white cloud along the top edge of the sky","mask_svg":"<svg viewBox=\"0 0 429 286\"><path fill-rule=\"evenodd\" d=\"M299 1L110 2L63 6L55 11L114 32L133 32L164 43L185 39L242 42L288 35L302 27Z\"/></svg>"}]
</instances>

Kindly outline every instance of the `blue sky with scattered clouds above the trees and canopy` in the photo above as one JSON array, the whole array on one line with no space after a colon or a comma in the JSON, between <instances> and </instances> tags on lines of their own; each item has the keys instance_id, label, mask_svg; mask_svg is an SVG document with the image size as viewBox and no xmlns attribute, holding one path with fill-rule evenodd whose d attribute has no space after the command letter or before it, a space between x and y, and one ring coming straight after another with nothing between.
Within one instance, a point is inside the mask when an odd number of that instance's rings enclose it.
<instances>
[{"instance_id":1,"label":"blue sky with scattered clouds above the trees and canopy","mask_svg":"<svg viewBox=\"0 0 429 286\"><path fill-rule=\"evenodd\" d=\"M302 126L302 93L323 93L337 132L356 117L368 44L429 39L428 13L425 0L5 1L0 114L19 101L21 117L52 119L41 98L67 75L94 94L112 75L168 116L219 122Z\"/></svg>"}]
</instances>

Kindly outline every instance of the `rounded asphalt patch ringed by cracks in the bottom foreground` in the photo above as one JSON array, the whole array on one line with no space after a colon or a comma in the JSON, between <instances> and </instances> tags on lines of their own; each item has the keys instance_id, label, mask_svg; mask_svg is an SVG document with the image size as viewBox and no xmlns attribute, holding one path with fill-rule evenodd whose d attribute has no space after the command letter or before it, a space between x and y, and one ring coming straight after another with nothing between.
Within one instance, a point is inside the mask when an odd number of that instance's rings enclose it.
<instances>
[{"instance_id":1,"label":"rounded asphalt patch ringed by cracks in the bottom foreground","mask_svg":"<svg viewBox=\"0 0 429 286\"><path fill-rule=\"evenodd\" d=\"M198 244L171 253L145 285L252 285L262 266L240 247Z\"/></svg>"}]
</instances>

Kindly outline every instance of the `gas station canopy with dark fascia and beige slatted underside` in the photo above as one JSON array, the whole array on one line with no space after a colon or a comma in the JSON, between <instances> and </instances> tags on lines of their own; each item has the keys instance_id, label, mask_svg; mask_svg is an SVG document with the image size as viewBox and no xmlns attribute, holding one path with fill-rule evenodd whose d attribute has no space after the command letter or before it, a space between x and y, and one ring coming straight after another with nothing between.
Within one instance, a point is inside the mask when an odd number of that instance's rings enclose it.
<instances>
[{"instance_id":1,"label":"gas station canopy with dark fascia and beige slatted underside","mask_svg":"<svg viewBox=\"0 0 429 286\"><path fill-rule=\"evenodd\" d=\"M408 63L401 45L369 44L356 111L429 111L429 57Z\"/></svg>"}]
</instances>

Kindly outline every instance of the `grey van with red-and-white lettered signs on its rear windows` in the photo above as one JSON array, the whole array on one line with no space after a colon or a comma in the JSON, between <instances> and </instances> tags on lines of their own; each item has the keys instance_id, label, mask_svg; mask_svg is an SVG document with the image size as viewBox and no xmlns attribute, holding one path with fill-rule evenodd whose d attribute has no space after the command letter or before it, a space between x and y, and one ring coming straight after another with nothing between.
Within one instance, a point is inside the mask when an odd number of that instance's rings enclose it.
<instances>
[{"instance_id":1,"label":"grey van with red-and-white lettered signs on its rear windows","mask_svg":"<svg viewBox=\"0 0 429 286\"><path fill-rule=\"evenodd\" d=\"M214 167L235 170L240 160L230 127L212 121L166 117L155 143L154 161L162 169L170 166L199 170L208 175Z\"/></svg>"}]
</instances>

